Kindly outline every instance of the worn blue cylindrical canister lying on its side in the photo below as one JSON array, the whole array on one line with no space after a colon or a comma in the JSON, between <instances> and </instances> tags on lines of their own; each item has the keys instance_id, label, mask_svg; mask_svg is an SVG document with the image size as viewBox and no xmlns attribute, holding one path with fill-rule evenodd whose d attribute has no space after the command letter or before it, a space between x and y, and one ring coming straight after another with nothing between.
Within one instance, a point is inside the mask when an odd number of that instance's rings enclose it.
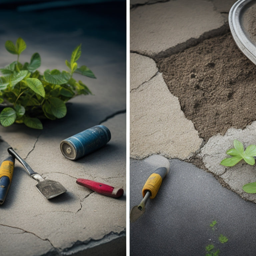
<instances>
[{"instance_id":1,"label":"worn blue cylindrical canister lying on its side","mask_svg":"<svg viewBox=\"0 0 256 256\"><path fill-rule=\"evenodd\" d=\"M103 147L110 139L109 129L96 125L61 141L60 150L66 158L76 160Z\"/></svg>"}]
</instances>

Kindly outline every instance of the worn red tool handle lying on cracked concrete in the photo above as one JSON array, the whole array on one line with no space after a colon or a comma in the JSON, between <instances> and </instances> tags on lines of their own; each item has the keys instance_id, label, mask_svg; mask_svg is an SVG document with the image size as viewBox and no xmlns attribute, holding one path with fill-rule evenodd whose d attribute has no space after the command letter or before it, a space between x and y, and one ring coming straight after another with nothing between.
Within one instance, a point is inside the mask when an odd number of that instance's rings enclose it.
<instances>
[{"instance_id":1,"label":"worn red tool handle lying on cracked concrete","mask_svg":"<svg viewBox=\"0 0 256 256\"><path fill-rule=\"evenodd\" d=\"M76 183L105 196L118 198L124 194L124 190L122 188L114 188L93 180L77 179Z\"/></svg>"}]
</instances>

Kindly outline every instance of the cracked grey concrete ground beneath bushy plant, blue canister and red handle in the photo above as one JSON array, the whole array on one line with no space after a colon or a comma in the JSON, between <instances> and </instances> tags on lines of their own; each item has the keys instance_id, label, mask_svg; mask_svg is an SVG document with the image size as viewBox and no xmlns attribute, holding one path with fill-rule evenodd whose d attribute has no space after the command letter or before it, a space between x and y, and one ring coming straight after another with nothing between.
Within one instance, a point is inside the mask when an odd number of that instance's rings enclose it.
<instances>
[{"instance_id":1,"label":"cracked grey concrete ground beneath bushy plant, blue canister and red handle","mask_svg":"<svg viewBox=\"0 0 256 256\"><path fill-rule=\"evenodd\" d=\"M125 2L34 13L1 10L0 16L1 67L15 60L5 50L5 41L21 36L27 44L21 62L39 52L41 72L64 70L65 60L82 43L78 63L97 77L77 75L94 95L70 100L67 115L44 121L42 131L18 124L0 127L1 159L9 144L36 172L67 189L52 200L45 199L35 187L37 182L16 161L9 193L0 207L0 254L125 255L126 192L115 199L76 184L77 178L84 178L126 191ZM77 161L61 154L61 140L97 124L111 131L104 148Z\"/></svg>"}]
</instances>

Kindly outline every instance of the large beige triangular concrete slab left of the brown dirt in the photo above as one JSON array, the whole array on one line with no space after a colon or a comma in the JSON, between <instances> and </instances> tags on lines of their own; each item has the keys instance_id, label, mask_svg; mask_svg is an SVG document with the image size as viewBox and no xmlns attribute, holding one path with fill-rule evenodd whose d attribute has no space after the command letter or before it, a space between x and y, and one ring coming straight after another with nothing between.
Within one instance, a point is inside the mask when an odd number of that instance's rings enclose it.
<instances>
[{"instance_id":1,"label":"large beige triangular concrete slab left of the brown dirt","mask_svg":"<svg viewBox=\"0 0 256 256\"><path fill-rule=\"evenodd\" d=\"M200 148L202 141L161 73L130 93L131 158L160 154L187 159Z\"/></svg>"}]
</instances>

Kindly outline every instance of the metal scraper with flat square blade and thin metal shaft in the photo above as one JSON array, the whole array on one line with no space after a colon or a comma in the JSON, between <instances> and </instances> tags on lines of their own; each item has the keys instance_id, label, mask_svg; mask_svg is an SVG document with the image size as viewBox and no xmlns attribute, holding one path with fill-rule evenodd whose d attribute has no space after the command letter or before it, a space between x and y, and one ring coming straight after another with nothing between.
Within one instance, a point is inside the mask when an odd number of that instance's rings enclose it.
<instances>
[{"instance_id":1,"label":"metal scraper with flat square blade and thin metal shaft","mask_svg":"<svg viewBox=\"0 0 256 256\"><path fill-rule=\"evenodd\" d=\"M34 172L32 168L27 164L27 162L22 159L14 150L12 147L9 147L8 152L14 156L28 171L29 175L35 179L38 184L36 184L36 188L39 190L39 192L46 198L51 199L55 196L61 195L67 190L58 182L54 180L45 180L41 175Z\"/></svg>"}]
</instances>

